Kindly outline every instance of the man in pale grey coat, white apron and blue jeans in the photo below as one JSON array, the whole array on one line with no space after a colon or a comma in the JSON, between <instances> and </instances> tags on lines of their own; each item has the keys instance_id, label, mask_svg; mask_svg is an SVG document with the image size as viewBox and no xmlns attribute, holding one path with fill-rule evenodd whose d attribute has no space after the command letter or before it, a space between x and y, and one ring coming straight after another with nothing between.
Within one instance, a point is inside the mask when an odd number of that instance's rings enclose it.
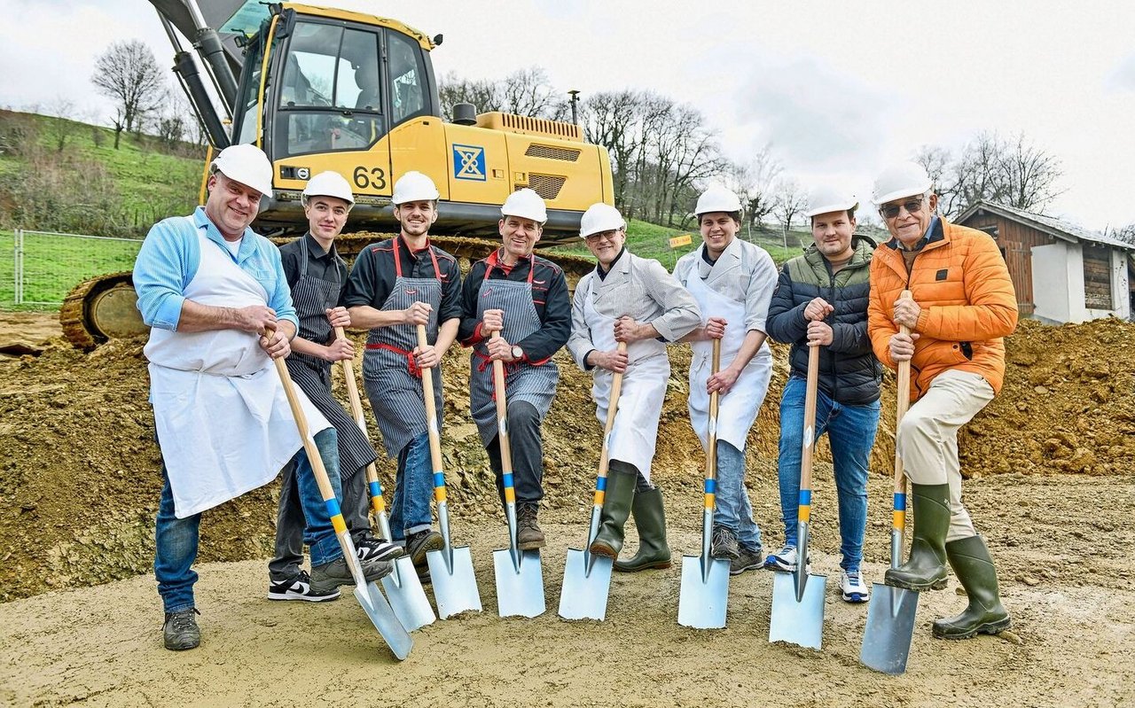
<instances>
[{"instance_id":1,"label":"man in pale grey coat, white apron and blue jeans","mask_svg":"<svg viewBox=\"0 0 1135 708\"><path fill-rule=\"evenodd\" d=\"M705 322L687 337L693 347L690 423L706 445L709 394L717 391L717 506L711 554L728 559L730 573L737 575L762 562L760 529L745 489L745 447L772 376L765 319L776 266L763 248L737 237L741 202L729 189L709 187L695 212L703 244L674 267L674 277L698 301ZM711 372L713 339L721 339L716 374Z\"/></svg>"}]
</instances>

